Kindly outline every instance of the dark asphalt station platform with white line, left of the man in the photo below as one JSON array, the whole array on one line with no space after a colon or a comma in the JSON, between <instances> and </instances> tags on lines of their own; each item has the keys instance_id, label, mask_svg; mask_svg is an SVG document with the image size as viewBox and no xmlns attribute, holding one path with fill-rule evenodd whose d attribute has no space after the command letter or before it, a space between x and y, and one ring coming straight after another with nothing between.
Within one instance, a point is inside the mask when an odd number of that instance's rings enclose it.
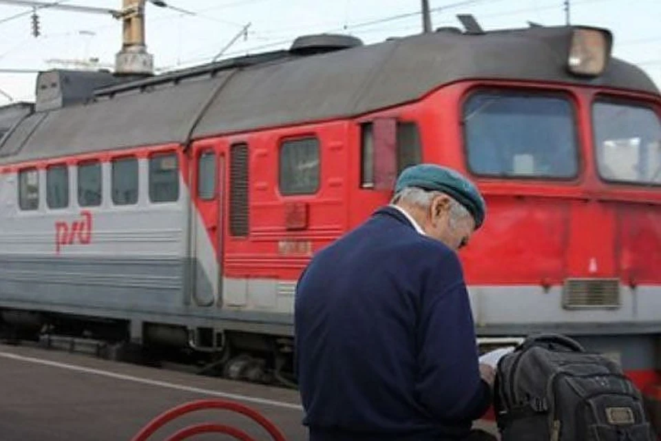
<instances>
[{"instance_id":1,"label":"dark asphalt station platform with white line, left of the man","mask_svg":"<svg viewBox=\"0 0 661 441\"><path fill-rule=\"evenodd\" d=\"M213 398L260 411L287 440L305 440L307 435L298 393L288 389L8 345L0 345L0 378L3 441L129 441L171 407ZM269 439L255 422L222 410L177 418L150 439L162 440L202 422L228 424L257 440ZM227 437L207 434L194 439Z\"/></svg>"}]
</instances>

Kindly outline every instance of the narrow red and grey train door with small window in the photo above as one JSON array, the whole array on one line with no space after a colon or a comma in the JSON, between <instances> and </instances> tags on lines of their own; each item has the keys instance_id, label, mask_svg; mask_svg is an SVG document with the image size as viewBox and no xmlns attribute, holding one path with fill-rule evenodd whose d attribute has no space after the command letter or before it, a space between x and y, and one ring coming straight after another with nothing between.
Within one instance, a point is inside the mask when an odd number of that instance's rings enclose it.
<instances>
[{"instance_id":1,"label":"narrow red and grey train door with small window","mask_svg":"<svg viewBox=\"0 0 661 441\"><path fill-rule=\"evenodd\" d=\"M219 305L222 299L224 167L224 154L213 146L195 150L191 296L200 307Z\"/></svg>"}]
</instances>

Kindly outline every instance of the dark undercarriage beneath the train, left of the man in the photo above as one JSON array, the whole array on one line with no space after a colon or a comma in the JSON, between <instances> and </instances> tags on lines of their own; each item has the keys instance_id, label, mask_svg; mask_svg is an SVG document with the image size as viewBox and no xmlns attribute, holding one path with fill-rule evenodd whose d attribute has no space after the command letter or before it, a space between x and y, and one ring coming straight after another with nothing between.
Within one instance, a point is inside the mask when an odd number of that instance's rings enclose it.
<instances>
[{"instance_id":1,"label":"dark undercarriage beneath the train, left of the man","mask_svg":"<svg viewBox=\"0 0 661 441\"><path fill-rule=\"evenodd\" d=\"M200 375L296 387L293 338L149 322L141 331L136 340L129 320L0 309L0 337L7 343L39 342L111 360L179 365Z\"/></svg>"}]
</instances>

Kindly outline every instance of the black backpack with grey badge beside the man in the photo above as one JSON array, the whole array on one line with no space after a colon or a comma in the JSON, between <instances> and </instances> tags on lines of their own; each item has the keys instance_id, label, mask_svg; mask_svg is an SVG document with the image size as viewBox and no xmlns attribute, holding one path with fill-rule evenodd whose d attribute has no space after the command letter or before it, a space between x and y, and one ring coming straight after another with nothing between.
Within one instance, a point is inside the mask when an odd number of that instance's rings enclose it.
<instances>
[{"instance_id":1,"label":"black backpack with grey badge beside the man","mask_svg":"<svg viewBox=\"0 0 661 441\"><path fill-rule=\"evenodd\" d=\"M494 411L503 441L655 441L640 391L618 365L556 334L499 360Z\"/></svg>"}]
</instances>

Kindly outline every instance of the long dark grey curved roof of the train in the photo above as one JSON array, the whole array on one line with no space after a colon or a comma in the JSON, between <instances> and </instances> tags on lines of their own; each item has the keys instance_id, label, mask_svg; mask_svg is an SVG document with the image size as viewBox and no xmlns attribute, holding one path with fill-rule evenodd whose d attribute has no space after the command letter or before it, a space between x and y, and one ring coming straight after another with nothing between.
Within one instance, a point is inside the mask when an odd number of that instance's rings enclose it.
<instances>
[{"instance_id":1,"label":"long dark grey curved roof of the train","mask_svg":"<svg viewBox=\"0 0 661 441\"><path fill-rule=\"evenodd\" d=\"M441 30L374 45L299 41L291 50L240 57L137 81L107 81L87 101L41 106L0 144L0 163L364 114L420 99L467 79L605 86L658 94L635 65L611 58L593 78L567 70L574 27L497 32ZM333 39L335 37L328 37ZM339 38L339 37L337 37ZM323 38L322 38L323 40ZM61 83L69 83L65 77ZM53 82L52 84L56 84ZM50 107L49 107L50 106Z\"/></svg>"}]
</instances>

